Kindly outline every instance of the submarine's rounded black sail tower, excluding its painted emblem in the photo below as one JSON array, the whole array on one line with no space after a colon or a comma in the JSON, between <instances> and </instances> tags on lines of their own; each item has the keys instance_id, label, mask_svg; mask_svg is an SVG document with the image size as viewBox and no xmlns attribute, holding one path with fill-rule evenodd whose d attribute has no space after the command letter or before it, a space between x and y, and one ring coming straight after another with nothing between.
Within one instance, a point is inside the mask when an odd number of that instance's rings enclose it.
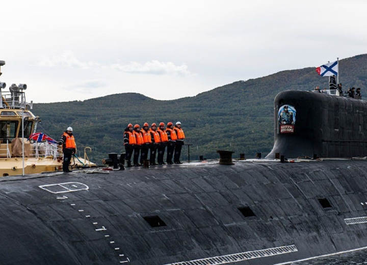
<instances>
[{"instance_id":1,"label":"submarine's rounded black sail tower, excluding its painted emblem","mask_svg":"<svg viewBox=\"0 0 367 265\"><path fill-rule=\"evenodd\" d=\"M295 108L294 133L282 133L279 109ZM289 90L274 99L274 147L286 158L298 156L353 157L367 155L367 101L316 93Z\"/></svg>"}]
</instances>

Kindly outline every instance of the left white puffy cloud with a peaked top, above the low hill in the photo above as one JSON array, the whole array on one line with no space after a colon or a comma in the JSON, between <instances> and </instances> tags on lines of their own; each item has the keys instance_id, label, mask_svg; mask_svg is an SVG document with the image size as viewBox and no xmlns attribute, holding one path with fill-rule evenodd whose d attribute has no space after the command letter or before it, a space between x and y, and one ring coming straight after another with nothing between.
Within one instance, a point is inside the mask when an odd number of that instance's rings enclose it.
<instances>
[{"instance_id":1,"label":"left white puffy cloud with a peaked top, above the low hill","mask_svg":"<svg viewBox=\"0 0 367 265\"><path fill-rule=\"evenodd\" d=\"M43 57L39 61L38 65L45 67L66 67L77 69L90 69L92 67L99 66L99 64L95 62L83 62L78 60L70 50L64 51L61 55Z\"/></svg>"}]
</instances>

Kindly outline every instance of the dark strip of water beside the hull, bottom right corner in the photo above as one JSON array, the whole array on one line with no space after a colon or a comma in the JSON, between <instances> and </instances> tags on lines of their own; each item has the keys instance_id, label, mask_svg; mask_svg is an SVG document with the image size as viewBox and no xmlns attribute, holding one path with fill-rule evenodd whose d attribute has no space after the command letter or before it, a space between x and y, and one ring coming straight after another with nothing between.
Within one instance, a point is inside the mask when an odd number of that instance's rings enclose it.
<instances>
[{"instance_id":1,"label":"dark strip of water beside the hull, bottom right corner","mask_svg":"<svg viewBox=\"0 0 367 265\"><path fill-rule=\"evenodd\" d=\"M317 258L302 262L292 263L293 265L342 265L342 264L354 264L354 265L364 265L367 264L367 250L359 250L354 252L349 252L345 254Z\"/></svg>"}]
</instances>

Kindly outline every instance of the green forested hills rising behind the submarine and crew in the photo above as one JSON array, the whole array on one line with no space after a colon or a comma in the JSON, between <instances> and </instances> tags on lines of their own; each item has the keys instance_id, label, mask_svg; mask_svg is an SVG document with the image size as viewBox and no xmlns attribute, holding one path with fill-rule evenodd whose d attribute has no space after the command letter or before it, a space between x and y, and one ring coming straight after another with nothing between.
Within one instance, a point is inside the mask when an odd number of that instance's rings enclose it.
<instances>
[{"instance_id":1,"label":"green forested hills rising behind the submarine and crew","mask_svg":"<svg viewBox=\"0 0 367 265\"><path fill-rule=\"evenodd\" d=\"M367 55L339 61L344 90L361 87L367 95ZM238 81L194 97L155 100L137 93L114 94L84 101L40 103L34 114L42 119L38 131L59 138L67 126L74 128L78 151L93 149L91 160L109 152L122 152L122 132L127 123L181 121L191 147L192 159L199 155L217 157L216 150L267 153L273 146L273 99L283 90L311 90L327 87L314 67L286 70L265 77ZM364 98L364 97L363 97ZM170 110L168 113L167 110ZM187 155L187 148L183 149Z\"/></svg>"}]
</instances>

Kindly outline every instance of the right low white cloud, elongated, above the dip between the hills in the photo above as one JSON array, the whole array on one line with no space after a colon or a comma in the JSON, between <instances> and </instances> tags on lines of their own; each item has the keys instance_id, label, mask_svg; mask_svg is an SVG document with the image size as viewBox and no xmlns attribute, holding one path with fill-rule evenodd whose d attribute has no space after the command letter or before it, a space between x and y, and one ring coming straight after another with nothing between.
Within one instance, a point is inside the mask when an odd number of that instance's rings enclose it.
<instances>
[{"instance_id":1,"label":"right low white cloud, elongated, above the dip between the hills","mask_svg":"<svg viewBox=\"0 0 367 265\"><path fill-rule=\"evenodd\" d=\"M157 60L149 61L144 64L138 62L129 62L127 64L113 64L112 69L116 69L126 73L143 73L143 74L190 74L186 64L175 65L172 62L160 62Z\"/></svg>"}]
</instances>

